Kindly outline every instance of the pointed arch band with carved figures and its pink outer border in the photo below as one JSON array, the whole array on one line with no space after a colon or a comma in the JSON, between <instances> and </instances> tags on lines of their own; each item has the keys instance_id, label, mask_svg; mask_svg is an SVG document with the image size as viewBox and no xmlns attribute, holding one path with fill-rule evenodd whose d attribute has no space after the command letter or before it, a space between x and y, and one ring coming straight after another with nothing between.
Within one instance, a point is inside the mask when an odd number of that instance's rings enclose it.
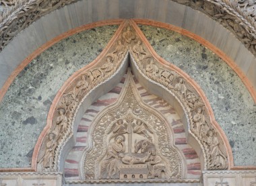
<instances>
[{"instance_id":1,"label":"pointed arch band with carved figures and its pink outer border","mask_svg":"<svg viewBox=\"0 0 256 186\"><path fill-rule=\"evenodd\" d=\"M97 58L90 66L82 68L81 71L70 77L55 97L49 111L46 128L40 135L33 154L33 160L36 160L39 165L38 171L59 170L61 149L73 135L73 121L77 108L91 89L94 89L98 83L104 82L106 78L111 78L121 65L121 60L127 50L133 54L141 74L166 87L183 105L189 121L189 133L197 140L204 153L205 169L227 169L230 166L228 163L230 164L230 160L232 160L230 146L220 126L214 120L213 111L205 95L199 86L181 69L165 62L155 54L146 38L143 38L145 36L139 31L135 22L130 21L130 23L133 28L127 26L124 29L125 24L122 24L114 39L110 41L108 50L101 54L101 58ZM123 45L119 44L120 41ZM106 60L105 64L104 60ZM114 66L111 64L109 68L108 64L111 62ZM151 64L152 62L153 64ZM156 78L156 69L158 69L159 78ZM109 74L107 74L108 72ZM200 111L199 108L201 108ZM199 119L200 122L196 118L201 118ZM208 127L203 127L205 131L200 129L201 125L205 126L206 124ZM212 142L218 143L214 151L211 147ZM53 154L49 151L52 148Z\"/></svg>"}]
</instances>

